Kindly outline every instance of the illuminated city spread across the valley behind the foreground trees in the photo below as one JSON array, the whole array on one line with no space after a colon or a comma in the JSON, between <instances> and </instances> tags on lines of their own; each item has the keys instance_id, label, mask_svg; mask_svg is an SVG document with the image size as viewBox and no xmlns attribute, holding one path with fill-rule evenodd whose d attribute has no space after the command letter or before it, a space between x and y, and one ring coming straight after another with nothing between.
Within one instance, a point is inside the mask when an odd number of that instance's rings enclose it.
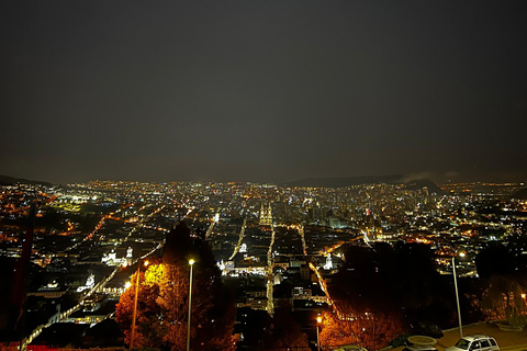
<instances>
[{"instance_id":1,"label":"illuminated city spread across the valley behind the foreground trees","mask_svg":"<svg viewBox=\"0 0 527 351\"><path fill-rule=\"evenodd\" d=\"M138 259L159 258L166 235L180 220L192 236L206 240L236 308L246 310L238 314L233 336L239 344L247 332L242 316L248 312L272 316L287 302L299 314L339 313L330 285L349 247L422 245L434 252L441 275L452 274L452 257L462 252L457 276L467 280L478 279L475 258L482 250L525 236L527 201L515 199L523 183L415 188L125 181L3 185L4 260L21 257L20 238L36 205L24 342L29 349L38 346L41 335L57 322L89 328L114 318ZM527 257L527 247L519 250L513 254ZM303 329L314 346L312 327Z\"/></svg>"}]
</instances>

